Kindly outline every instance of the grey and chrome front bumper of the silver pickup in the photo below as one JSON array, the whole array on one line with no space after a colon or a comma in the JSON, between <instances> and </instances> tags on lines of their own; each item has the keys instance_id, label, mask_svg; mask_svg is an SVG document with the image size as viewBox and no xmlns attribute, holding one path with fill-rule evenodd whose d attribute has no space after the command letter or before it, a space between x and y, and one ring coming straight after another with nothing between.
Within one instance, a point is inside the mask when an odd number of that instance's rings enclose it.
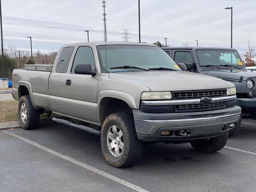
<instances>
[{"instance_id":1,"label":"grey and chrome front bumper of the silver pickup","mask_svg":"<svg viewBox=\"0 0 256 192\"><path fill-rule=\"evenodd\" d=\"M186 113L150 114L133 110L137 136L142 140L187 140L209 138L228 131L229 124L236 124L240 118L238 106L221 110ZM223 129L224 127L227 127ZM189 130L190 134L178 136L177 131ZM170 131L162 136L162 131Z\"/></svg>"}]
</instances>

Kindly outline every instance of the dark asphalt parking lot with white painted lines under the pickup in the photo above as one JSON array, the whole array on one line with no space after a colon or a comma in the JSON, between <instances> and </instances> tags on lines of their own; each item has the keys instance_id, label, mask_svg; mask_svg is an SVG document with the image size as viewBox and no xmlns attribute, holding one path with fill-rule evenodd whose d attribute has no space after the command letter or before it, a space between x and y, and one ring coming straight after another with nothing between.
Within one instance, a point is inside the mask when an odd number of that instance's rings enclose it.
<instances>
[{"instance_id":1,"label":"dark asphalt parking lot with white painted lines under the pickup","mask_svg":"<svg viewBox=\"0 0 256 192\"><path fill-rule=\"evenodd\" d=\"M256 120L219 152L190 144L144 146L130 168L109 166L99 136L64 125L0 132L0 191L255 192Z\"/></svg>"}]
</instances>

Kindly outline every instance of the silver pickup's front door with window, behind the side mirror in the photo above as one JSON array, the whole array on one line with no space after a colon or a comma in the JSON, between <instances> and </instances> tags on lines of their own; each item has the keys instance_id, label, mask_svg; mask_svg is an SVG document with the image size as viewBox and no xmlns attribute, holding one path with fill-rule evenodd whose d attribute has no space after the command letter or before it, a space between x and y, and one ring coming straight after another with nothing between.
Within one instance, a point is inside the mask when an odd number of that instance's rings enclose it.
<instances>
[{"instance_id":1,"label":"silver pickup's front door with window, behind the side mirror","mask_svg":"<svg viewBox=\"0 0 256 192\"><path fill-rule=\"evenodd\" d=\"M97 123L97 89L100 72L95 76L90 74L75 74L74 68L78 63L91 64L96 70L95 60L90 46L79 46L76 50L70 71L66 74L64 97L66 98L66 112L68 116Z\"/></svg>"}]
</instances>

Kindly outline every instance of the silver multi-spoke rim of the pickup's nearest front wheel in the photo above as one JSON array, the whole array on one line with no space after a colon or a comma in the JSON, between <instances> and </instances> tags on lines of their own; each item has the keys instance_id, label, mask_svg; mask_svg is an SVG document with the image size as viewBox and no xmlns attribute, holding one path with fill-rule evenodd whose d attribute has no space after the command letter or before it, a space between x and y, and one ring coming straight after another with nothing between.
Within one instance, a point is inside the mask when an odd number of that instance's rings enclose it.
<instances>
[{"instance_id":1,"label":"silver multi-spoke rim of the pickup's nearest front wheel","mask_svg":"<svg viewBox=\"0 0 256 192\"><path fill-rule=\"evenodd\" d=\"M124 150L124 138L118 126L112 125L108 128L107 144L108 150L113 156L118 157L122 154Z\"/></svg>"}]
</instances>

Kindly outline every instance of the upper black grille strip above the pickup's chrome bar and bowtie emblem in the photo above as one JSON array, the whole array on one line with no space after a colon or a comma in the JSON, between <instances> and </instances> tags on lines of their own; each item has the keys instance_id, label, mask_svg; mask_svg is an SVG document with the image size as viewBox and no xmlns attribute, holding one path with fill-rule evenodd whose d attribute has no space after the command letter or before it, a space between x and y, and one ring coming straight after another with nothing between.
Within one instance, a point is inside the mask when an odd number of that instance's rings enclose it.
<instances>
[{"instance_id":1,"label":"upper black grille strip above the pickup's chrome bar and bowtie emblem","mask_svg":"<svg viewBox=\"0 0 256 192\"><path fill-rule=\"evenodd\" d=\"M175 92L176 99L186 98L202 98L202 97L218 97L224 96L226 90L209 90L209 91L194 91L194 92Z\"/></svg>"}]
</instances>

